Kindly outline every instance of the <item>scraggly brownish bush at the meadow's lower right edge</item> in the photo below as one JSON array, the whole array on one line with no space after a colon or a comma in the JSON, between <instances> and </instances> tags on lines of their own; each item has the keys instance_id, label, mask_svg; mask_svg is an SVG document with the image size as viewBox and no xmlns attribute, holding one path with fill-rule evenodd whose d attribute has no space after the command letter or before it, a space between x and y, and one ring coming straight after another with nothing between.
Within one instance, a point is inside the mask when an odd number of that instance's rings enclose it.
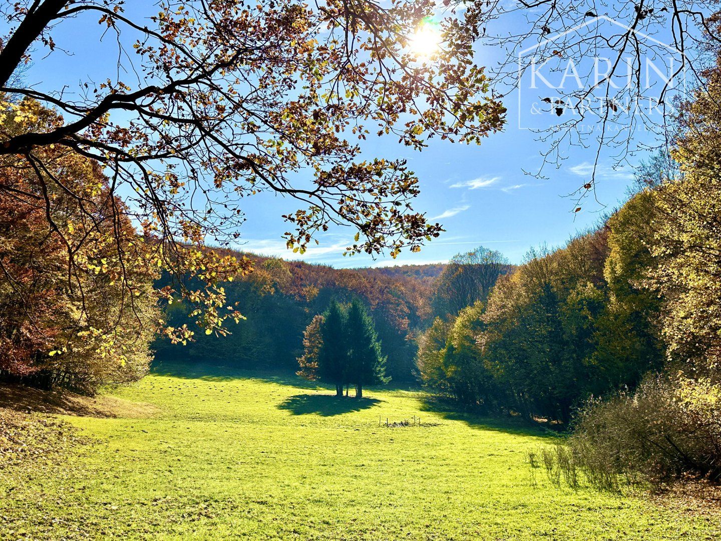
<instances>
[{"instance_id":1,"label":"scraggly brownish bush at the meadow's lower right edge","mask_svg":"<svg viewBox=\"0 0 721 541\"><path fill-rule=\"evenodd\" d=\"M588 403L567 442L540 454L549 478L573 488L581 478L612 491L689 475L719 481L721 388L709 379L649 378L635 392Z\"/></svg>"}]
</instances>

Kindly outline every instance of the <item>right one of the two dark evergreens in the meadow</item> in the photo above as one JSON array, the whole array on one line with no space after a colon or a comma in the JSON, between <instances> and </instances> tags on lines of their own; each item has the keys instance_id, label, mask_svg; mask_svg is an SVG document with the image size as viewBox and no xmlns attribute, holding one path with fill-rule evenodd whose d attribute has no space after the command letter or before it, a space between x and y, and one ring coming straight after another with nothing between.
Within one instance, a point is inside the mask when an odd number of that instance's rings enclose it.
<instances>
[{"instance_id":1,"label":"right one of the two dark evergreens in the meadow","mask_svg":"<svg viewBox=\"0 0 721 541\"><path fill-rule=\"evenodd\" d=\"M348 347L348 381L355 385L355 397L363 397L363 386L390 381L385 374L386 359L381 355L373 320L358 299L353 300L345 321Z\"/></svg>"}]
</instances>

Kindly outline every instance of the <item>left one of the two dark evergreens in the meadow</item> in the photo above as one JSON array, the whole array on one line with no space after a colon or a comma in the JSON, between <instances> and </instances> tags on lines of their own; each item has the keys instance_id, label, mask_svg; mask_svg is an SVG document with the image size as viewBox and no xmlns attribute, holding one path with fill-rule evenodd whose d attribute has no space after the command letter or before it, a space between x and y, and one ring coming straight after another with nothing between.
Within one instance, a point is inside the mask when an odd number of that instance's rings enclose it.
<instances>
[{"instance_id":1,"label":"left one of the two dark evergreens in the meadow","mask_svg":"<svg viewBox=\"0 0 721 541\"><path fill-rule=\"evenodd\" d=\"M318 351L318 376L324 382L335 384L336 396L343 395L343 384L348 373L345 325L344 310L333 299L320 324L322 347Z\"/></svg>"}]
</instances>

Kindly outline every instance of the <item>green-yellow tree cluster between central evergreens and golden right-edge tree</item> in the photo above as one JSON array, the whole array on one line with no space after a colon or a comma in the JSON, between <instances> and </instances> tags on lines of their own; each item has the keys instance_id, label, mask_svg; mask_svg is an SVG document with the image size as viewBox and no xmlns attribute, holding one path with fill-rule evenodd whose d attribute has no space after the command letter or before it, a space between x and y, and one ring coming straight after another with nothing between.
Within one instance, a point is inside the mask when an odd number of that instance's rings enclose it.
<instances>
[{"instance_id":1,"label":"green-yellow tree cluster between central evergreens and golden right-edge tree","mask_svg":"<svg viewBox=\"0 0 721 541\"><path fill-rule=\"evenodd\" d=\"M531 250L485 299L435 318L418 363L429 387L489 410L570 421L590 395L663 365L648 193L559 250Z\"/></svg>"}]
</instances>

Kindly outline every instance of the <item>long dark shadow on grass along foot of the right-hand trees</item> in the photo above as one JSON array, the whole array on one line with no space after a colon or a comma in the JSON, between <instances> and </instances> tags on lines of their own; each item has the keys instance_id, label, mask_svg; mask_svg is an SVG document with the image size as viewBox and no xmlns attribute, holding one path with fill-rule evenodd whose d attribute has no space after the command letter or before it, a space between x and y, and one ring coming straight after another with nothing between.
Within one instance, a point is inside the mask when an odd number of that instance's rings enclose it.
<instances>
[{"instance_id":1,"label":"long dark shadow on grass along foot of the right-hand trees","mask_svg":"<svg viewBox=\"0 0 721 541\"><path fill-rule=\"evenodd\" d=\"M446 397L425 395L420 398L420 410L441 415L449 421L462 421L479 430L494 430L519 436L558 436L557 431L549 430L540 424L533 424L524 418L511 415L490 416L480 408L464 407L456 400Z\"/></svg>"}]
</instances>

